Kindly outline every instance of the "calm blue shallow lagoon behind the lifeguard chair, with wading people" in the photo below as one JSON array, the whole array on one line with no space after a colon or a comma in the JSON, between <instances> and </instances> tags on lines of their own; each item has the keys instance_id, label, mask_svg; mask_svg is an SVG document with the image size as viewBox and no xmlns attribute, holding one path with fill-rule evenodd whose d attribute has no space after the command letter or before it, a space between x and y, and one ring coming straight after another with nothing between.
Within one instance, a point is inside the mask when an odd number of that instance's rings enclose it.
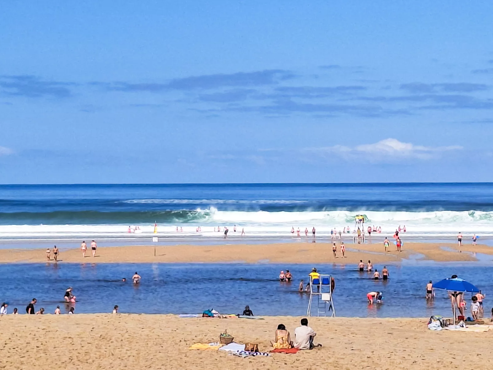
<instances>
[{"instance_id":1,"label":"calm blue shallow lagoon behind the lifeguard chair, with wading people","mask_svg":"<svg viewBox=\"0 0 493 370\"><path fill-rule=\"evenodd\" d=\"M308 295L298 293L297 288L301 278L306 283L312 267L267 263L2 264L0 274L4 282L0 299L9 302L9 312L18 307L24 313L33 297L38 300L36 309L44 307L52 313L60 305L62 312L68 312L70 306L63 303L63 296L71 286L78 299L76 313L111 312L115 304L127 313L200 313L208 308L221 313L241 313L248 304L255 315L301 316L306 314ZM375 267L380 271L383 266ZM336 280L334 304L338 316L450 315L447 294L437 291L434 301L427 303L424 288L429 280L438 281L452 274L486 293L488 315L488 296L493 292L491 267L454 264L387 267L389 280L375 282L367 272L358 272L355 265L317 265L321 273L332 274ZM279 271L286 268L293 274L291 283L277 280ZM131 278L135 271L142 276L141 284L121 281L122 277ZM382 291L384 303L369 306L366 294L370 291ZM466 298L469 301L468 295Z\"/></svg>"}]
</instances>

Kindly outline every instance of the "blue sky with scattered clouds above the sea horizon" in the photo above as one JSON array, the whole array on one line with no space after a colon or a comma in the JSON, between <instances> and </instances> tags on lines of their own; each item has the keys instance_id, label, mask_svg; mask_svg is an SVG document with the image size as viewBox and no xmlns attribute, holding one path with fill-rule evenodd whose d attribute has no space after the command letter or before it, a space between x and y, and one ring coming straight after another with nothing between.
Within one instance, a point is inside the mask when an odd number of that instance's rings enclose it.
<instances>
[{"instance_id":1,"label":"blue sky with scattered clouds above the sea horizon","mask_svg":"<svg viewBox=\"0 0 493 370\"><path fill-rule=\"evenodd\" d=\"M491 1L3 1L0 183L493 182Z\"/></svg>"}]
</instances>

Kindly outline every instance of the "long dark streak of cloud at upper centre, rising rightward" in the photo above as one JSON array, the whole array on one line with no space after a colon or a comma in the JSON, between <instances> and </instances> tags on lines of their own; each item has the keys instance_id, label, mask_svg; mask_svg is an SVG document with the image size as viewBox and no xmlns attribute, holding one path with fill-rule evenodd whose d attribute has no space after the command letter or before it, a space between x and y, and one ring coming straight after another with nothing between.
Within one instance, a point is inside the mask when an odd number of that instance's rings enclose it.
<instances>
[{"instance_id":1,"label":"long dark streak of cloud at upper centre, rising rightward","mask_svg":"<svg viewBox=\"0 0 493 370\"><path fill-rule=\"evenodd\" d=\"M206 74L175 78L166 83L129 83L114 82L105 84L108 90L151 93L170 90L211 90L223 87L249 87L278 84L280 81L293 78L294 74L285 70L264 70L256 72L238 72L234 74ZM101 85L93 82L93 85Z\"/></svg>"}]
</instances>

